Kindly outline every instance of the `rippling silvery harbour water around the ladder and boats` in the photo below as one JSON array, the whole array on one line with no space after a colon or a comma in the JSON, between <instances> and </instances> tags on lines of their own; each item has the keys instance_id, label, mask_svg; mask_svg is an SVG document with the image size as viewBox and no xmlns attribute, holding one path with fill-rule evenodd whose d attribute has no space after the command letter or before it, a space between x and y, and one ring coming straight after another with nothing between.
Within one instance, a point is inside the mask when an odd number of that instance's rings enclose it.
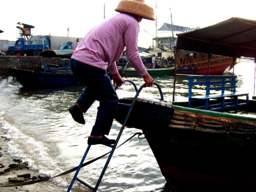
<instances>
[{"instance_id":1,"label":"rippling silvery harbour water around the ladder and boats","mask_svg":"<svg viewBox=\"0 0 256 192\"><path fill-rule=\"evenodd\" d=\"M236 65L235 75L238 76L237 91L250 92L251 98L254 94L254 63L244 62ZM123 79L132 80L138 88L144 83L141 77ZM154 80L161 87L164 99L172 101L173 77L154 77ZM1 136L8 138L8 153L27 161L30 169L51 176L77 166L87 148L87 137L94 125L99 106L99 103L95 102L87 111L85 125L73 120L68 107L76 102L83 89L83 86L71 86L25 90L11 77L8 81L4 80L0 84L0 129ZM188 100L187 78L178 77L175 92L176 101ZM119 98L135 95L134 87L130 83L125 83L117 93ZM156 86L143 88L139 96L160 98ZM109 138L116 138L121 126L114 121ZM141 130L125 128L119 144L137 132ZM91 146L86 161L108 151L110 148L105 146ZM85 166L80 170L79 178L95 186L106 160L107 157L104 157ZM73 176L74 172L45 182L44 191L66 191ZM134 137L115 150L98 191L156 191L165 183L147 140ZM72 191L88 189L75 182Z\"/></svg>"}]
</instances>

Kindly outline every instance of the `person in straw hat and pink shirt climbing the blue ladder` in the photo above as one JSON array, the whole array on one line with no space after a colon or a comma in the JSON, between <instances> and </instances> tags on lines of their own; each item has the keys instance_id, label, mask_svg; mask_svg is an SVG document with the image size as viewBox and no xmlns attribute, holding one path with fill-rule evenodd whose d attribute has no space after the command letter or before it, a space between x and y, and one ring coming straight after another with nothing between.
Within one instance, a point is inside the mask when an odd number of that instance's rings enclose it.
<instances>
[{"instance_id":1,"label":"person in straw hat and pink shirt climbing the blue ladder","mask_svg":"<svg viewBox=\"0 0 256 192\"><path fill-rule=\"evenodd\" d=\"M76 103L69 107L73 119L85 124L83 113L96 100L100 103L88 145L111 145L115 142L105 135L109 134L118 104L114 87L123 84L115 61L120 58L124 47L131 65L143 76L145 87L152 86L154 81L142 63L136 44L138 23L143 18L155 20L154 9L144 0L121 0L115 10L120 14L91 29L76 47L70 61L73 73L86 85ZM106 74L107 67L113 76L114 87Z\"/></svg>"}]
</instances>

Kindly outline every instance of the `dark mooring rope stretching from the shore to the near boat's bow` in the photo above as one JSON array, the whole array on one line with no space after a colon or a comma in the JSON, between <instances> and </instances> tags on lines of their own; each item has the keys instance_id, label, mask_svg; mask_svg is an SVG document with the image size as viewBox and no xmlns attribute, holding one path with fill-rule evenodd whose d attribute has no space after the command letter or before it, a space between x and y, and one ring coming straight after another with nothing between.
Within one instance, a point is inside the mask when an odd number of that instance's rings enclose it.
<instances>
[{"instance_id":1,"label":"dark mooring rope stretching from the shore to the near boat's bow","mask_svg":"<svg viewBox=\"0 0 256 192\"><path fill-rule=\"evenodd\" d=\"M139 137L139 136L143 135L143 133L137 132L137 133L135 133L133 136L131 136L130 138L128 138L127 140L125 140L125 141L124 141L121 145L119 145L117 148L119 148L119 147L121 147L122 145L124 145L124 143L126 143L126 142L129 141L129 140L131 140L131 139L132 139L133 137L135 137L136 135L138 135L138 138L139 138L139 139L143 139L143 138L140 138L140 137ZM117 148L115 148L115 149L117 149ZM93 163L93 162L95 162L95 161L97 161L97 160L103 158L104 156L106 156L106 155L109 154L110 152L111 152L111 151L109 151L109 152L107 152L107 153L105 153L105 154L103 154L103 155L101 155L101 156L99 156L99 157L97 157L97 158L95 158L95 159L92 159L92 160L90 160L90 161L87 161L87 162L83 163L83 165L82 165L81 167L84 167L84 166L86 166L86 165L89 165L89 164L91 164L91 163ZM14 184L9 184L9 185L0 185L0 187L15 187L15 186L23 186L23 185L30 185L30 184L34 184L34 183L40 183L40 182L43 182L43 181L46 181L46 180L49 180L49 179L52 179L52 178L60 177L60 176L66 175L66 174L68 174L68 173L74 172L74 171L76 171L77 169L78 169L78 166L74 167L74 168L71 169L71 170L65 171L65 172L63 172L63 173L61 173L61 174L59 174L59 175L55 175L55 176L53 176L53 177L35 179L35 180L32 180L32 181L27 181L27 182L22 182L22 183L14 183Z\"/></svg>"}]
</instances>

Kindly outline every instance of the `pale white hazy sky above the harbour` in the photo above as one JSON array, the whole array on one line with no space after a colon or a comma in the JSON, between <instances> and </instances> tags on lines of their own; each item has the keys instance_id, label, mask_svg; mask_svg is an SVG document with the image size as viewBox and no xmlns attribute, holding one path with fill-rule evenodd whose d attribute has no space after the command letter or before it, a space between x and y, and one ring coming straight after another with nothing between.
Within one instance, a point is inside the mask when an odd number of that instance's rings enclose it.
<instances>
[{"instance_id":1,"label":"pale white hazy sky above the harbour","mask_svg":"<svg viewBox=\"0 0 256 192\"><path fill-rule=\"evenodd\" d=\"M206 27L227 20L240 17L256 20L255 0L145 0L156 10L157 29L164 22L185 27ZM114 11L119 0L1 0L0 40L16 40L17 22L32 25L34 35L56 35L83 38L87 31L97 23L103 21L105 3L105 17L117 14ZM157 3L157 9L156 9ZM170 12L171 8L171 12ZM156 22L142 20L139 23L140 33L138 46L148 47L156 35ZM159 36L167 33L157 32ZM168 34L167 34L168 35Z\"/></svg>"}]
</instances>

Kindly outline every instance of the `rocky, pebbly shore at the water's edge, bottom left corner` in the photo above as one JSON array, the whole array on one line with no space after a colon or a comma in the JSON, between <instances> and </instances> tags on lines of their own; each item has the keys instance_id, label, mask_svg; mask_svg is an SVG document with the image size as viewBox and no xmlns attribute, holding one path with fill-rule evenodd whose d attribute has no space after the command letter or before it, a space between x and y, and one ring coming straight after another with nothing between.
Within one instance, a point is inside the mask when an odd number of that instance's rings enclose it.
<instances>
[{"instance_id":1,"label":"rocky, pebbly shore at the water's edge, bottom left corner","mask_svg":"<svg viewBox=\"0 0 256 192\"><path fill-rule=\"evenodd\" d=\"M3 131L3 130L1 130ZM37 171L29 169L28 163L22 159L12 158L8 153L8 139L0 137L0 185L20 183L32 179L44 178L46 175L39 174ZM49 188L53 185L51 182L42 182L37 184L17 186L17 187L0 187L1 192L6 191L44 191L44 186ZM54 187L53 187L54 188ZM55 190L53 190L55 191Z\"/></svg>"}]
</instances>

